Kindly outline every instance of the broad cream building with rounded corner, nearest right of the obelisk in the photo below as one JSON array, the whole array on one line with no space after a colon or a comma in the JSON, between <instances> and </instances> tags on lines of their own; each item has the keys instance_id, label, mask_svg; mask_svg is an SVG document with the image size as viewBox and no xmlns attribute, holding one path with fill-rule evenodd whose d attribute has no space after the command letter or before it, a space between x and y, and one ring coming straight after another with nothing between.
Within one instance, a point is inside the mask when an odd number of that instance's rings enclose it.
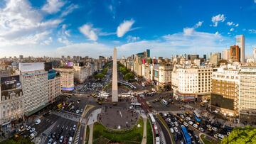
<instances>
[{"instance_id":1,"label":"broad cream building with rounded corner, nearest right of the obelisk","mask_svg":"<svg viewBox=\"0 0 256 144\"><path fill-rule=\"evenodd\" d=\"M174 98L181 101L206 99L211 92L211 67L176 67L171 75Z\"/></svg>"}]
</instances>

